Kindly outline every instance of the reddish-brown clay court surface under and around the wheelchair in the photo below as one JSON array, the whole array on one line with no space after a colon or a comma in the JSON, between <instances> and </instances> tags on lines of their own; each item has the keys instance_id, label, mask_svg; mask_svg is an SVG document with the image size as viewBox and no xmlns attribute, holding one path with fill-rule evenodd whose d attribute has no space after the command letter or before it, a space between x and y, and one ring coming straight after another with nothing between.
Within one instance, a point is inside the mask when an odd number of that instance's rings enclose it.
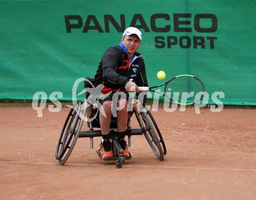
<instances>
[{"instance_id":1,"label":"reddish-brown clay court surface under and around the wheelchair","mask_svg":"<svg viewBox=\"0 0 256 200\"><path fill-rule=\"evenodd\" d=\"M0 106L0 199L256 199L256 110L152 112L166 143L159 161L144 136L131 137L122 169L80 138L64 166L56 142L69 108ZM136 118L133 127L138 127ZM83 130L86 130L84 123Z\"/></svg>"}]
</instances>

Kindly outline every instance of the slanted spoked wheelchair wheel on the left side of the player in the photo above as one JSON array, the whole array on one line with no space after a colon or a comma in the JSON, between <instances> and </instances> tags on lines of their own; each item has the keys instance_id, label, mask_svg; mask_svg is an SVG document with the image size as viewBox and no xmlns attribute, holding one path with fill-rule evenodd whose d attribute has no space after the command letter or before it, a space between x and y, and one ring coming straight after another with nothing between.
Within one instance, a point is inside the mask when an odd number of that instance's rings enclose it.
<instances>
[{"instance_id":1,"label":"slanted spoked wheelchair wheel on the left side of the player","mask_svg":"<svg viewBox=\"0 0 256 200\"><path fill-rule=\"evenodd\" d=\"M76 109L71 109L67 119L63 125L61 136L56 148L56 159L59 160L59 164L63 165L69 158L73 151L74 145L79 137L83 120L79 117L81 112L81 103L79 103ZM84 112L84 111L83 111Z\"/></svg>"}]
</instances>

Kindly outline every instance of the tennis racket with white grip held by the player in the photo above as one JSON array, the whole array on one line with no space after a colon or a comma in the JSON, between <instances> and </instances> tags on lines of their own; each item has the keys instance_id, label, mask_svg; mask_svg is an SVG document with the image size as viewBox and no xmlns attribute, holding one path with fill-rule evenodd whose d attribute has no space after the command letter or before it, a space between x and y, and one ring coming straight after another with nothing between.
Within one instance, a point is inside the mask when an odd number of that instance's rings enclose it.
<instances>
[{"instance_id":1,"label":"tennis racket with white grip held by the player","mask_svg":"<svg viewBox=\"0 0 256 200\"><path fill-rule=\"evenodd\" d=\"M164 88L163 93L155 90L155 88L162 86ZM201 79L187 74L177 75L157 86L138 88L141 92L151 91L161 94L166 99L181 105L191 105L200 102L205 92L204 83Z\"/></svg>"}]
</instances>

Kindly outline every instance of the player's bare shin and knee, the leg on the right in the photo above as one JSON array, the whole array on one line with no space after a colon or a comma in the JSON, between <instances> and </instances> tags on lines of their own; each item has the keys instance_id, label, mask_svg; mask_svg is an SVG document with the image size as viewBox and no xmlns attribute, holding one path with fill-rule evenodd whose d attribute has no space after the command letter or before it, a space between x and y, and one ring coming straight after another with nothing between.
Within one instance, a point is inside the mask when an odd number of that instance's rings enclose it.
<instances>
[{"instance_id":1,"label":"player's bare shin and knee, the leg on the right","mask_svg":"<svg viewBox=\"0 0 256 200\"><path fill-rule=\"evenodd\" d=\"M127 129L127 119L128 119L128 112L127 112L127 104L128 101L126 99L118 100L118 107L123 107L122 110L118 110L117 117L118 117L118 132L125 132Z\"/></svg>"}]
</instances>

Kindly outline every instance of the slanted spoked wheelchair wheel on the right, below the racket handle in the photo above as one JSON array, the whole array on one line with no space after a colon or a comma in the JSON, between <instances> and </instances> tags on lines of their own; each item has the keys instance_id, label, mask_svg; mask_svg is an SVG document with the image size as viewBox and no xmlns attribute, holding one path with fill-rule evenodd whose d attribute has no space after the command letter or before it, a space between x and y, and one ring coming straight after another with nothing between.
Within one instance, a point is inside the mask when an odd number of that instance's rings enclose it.
<instances>
[{"instance_id":1,"label":"slanted spoked wheelchair wheel on the right, below the racket handle","mask_svg":"<svg viewBox=\"0 0 256 200\"><path fill-rule=\"evenodd\" d=\"M150 121L147 115L147 111L135 112L136 118L140 125L141 131L143 132L148 144L154 154L158 157L159 160L163 160L163 148L159 142L157 132L154 129L154 125Z\"/></svg>"}]
</instances>

